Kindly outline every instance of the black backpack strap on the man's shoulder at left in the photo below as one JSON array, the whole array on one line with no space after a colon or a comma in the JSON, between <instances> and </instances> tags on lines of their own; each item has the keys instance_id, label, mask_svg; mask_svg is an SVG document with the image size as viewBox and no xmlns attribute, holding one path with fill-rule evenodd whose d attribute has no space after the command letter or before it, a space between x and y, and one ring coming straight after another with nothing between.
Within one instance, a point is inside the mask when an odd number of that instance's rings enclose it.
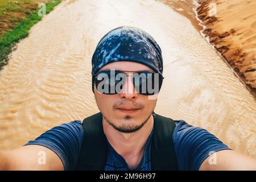
<instances>
[{"instance_id":1,"label":"black backpack strap on the man's shoulder at left","mask_svg":"<svg viewBox=\"0 0 256 182\"><path fill-rule=\"evenodd\" d=\"M107 139L102 127L102 114L97 113L82 122L84 140L77 170L104 170L108 155Z\"/></svg>"}]
</instances>

